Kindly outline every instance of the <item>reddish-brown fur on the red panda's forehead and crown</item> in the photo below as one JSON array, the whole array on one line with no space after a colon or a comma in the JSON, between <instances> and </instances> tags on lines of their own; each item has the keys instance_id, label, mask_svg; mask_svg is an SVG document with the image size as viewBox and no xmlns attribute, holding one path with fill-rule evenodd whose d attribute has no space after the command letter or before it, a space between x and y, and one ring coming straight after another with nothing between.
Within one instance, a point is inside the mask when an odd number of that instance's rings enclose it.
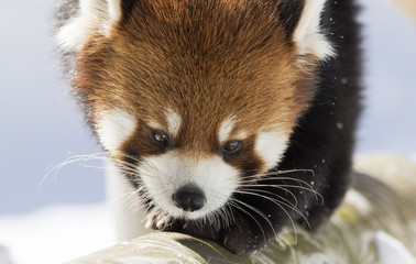
<instances>
[{"instance_id":1,"label":"reddish-brown fur on the red panda's forehead and crown","mask_svg":"<svg viewBox=\"0 0 416 264\"><path fill-rule=\"evenodd\" d=\"M149 138L147 121L167 127L166 107L183 120L176 146L193 155L217 152L219 127L232 116L231 136L289 134L313 97L315 61L296 55L276 10L259 1L139 1L109 38L94 36L80 51L76 89L92 122L113 107L141 120L136 144Z\"/></svg>"}]
</instances>

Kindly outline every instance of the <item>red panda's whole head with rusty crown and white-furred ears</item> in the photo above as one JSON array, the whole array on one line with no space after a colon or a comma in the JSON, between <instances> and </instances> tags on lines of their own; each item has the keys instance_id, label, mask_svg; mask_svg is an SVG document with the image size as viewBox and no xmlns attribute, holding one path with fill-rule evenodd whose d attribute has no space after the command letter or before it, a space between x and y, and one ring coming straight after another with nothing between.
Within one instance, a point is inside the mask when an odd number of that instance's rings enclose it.
<instances>
[{"instance_id":1,"label":"red panda's whole head with rusty crown and white-furred ears","mask_svg":"<svg viewBox=\"0 0 416 264\"><path fill-rule=\"evenodd\" d=\"M102 146L143 200L204 219L282 158L332 55L322 4L299 1L291 21L280 1L86 0L58 41Z\"/></svg>"}]
</instances>

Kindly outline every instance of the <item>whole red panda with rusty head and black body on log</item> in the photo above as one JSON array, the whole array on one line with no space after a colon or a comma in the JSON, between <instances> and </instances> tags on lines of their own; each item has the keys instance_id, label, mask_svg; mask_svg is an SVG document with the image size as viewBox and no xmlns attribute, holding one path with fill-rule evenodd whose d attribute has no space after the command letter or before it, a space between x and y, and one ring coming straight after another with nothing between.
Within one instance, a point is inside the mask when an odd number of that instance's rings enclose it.
<instances>
[{"instance_id":1,"label":"whole red panda with rusty head and black body on log","mask_svg":"<svg viewBox=\"0 0 416 264\"><path fill-rule=\"evenodd\" d=\"M353 0L63 0L56 40L147 226L243 253L294 222L317 230L349 187L355 13Z\"/></svg>"}]
</instances>

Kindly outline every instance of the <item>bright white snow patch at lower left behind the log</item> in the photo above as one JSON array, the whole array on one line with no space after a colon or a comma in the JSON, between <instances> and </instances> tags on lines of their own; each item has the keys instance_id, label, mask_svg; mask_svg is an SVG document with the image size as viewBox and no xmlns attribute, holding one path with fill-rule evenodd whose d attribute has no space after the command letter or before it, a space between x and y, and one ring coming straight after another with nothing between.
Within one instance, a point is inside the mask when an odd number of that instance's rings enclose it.
<instances>
[{"instance_id":1,"label":"bright white snow patch at lower left behind the log","mask_svg":"<svg viewBox=\"0 0 416 264\"><path fill-rule=\"evenodd\" d=\"M112 217L103 204L47 207L0 218L0 246L9 250L13 264L63 263L116 242ZM1 264L4 254L0 250Z\"/></svg>"}]
</instances>

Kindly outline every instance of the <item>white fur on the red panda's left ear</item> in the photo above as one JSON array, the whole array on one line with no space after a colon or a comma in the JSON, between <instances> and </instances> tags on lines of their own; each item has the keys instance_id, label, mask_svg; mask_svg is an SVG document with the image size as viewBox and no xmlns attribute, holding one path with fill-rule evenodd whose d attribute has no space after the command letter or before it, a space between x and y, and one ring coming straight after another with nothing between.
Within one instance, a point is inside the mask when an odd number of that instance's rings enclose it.
<instances>
[{"instance_id":1,"label":"white fur on the red panda's left ear","mask_svg":"<svg viewBox=\"0 0 416 264\"><path fill-rule=\"evenodd\" d=\"M110 26L121 19L121 0L79 0L78 13L56 34L63 52L79 50L92 33L107 35Z\"/></svg>"}]
</instances>

